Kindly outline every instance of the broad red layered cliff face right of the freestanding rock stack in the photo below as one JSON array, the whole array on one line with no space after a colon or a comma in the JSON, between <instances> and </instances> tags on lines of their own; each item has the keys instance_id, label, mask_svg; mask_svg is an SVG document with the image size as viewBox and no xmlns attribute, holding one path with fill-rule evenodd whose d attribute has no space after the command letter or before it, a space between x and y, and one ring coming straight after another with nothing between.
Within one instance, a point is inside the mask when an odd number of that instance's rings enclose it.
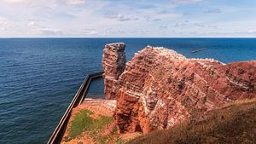
<instances>
[{"instance_id":1,"label":"broad red layered cliff face right of the freestanding rock stack","mask_svg":"<svg viewBox=\"0 0 256 144\"><path fill-rule=\"evenodd\" d=\"M147 47L126 64L117 84L119 130L148 133L202 118L226 102L256 97L256 60L224 65Z\"/></svg>"}]
</instances>

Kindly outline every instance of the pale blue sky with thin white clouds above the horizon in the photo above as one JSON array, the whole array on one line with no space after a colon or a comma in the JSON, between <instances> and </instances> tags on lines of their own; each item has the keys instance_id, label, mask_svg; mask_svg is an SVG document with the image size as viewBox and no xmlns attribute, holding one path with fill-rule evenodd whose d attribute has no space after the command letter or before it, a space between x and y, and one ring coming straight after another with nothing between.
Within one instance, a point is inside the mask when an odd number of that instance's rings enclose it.
<instances>
[{"instance_id":1,"label":"pale blue sky with thin white clouds above the horizon","mask_svg":"<svg viewBox=\"0 0 256 144\"><path fill-rule=\"evenodd\" d=\"M0 37L256 37L256 1L0 0Z\"/></svg>"}]
</instances>

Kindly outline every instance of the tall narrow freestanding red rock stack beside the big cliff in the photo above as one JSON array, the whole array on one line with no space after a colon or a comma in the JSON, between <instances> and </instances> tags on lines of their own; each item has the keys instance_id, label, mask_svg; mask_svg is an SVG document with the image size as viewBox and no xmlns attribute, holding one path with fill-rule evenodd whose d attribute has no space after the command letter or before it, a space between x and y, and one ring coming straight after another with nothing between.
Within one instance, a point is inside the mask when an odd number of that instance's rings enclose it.
<instances>
[{"instance_id":1,"label":"tall narrow freestanding red rock stack beside the big cliff","mask_svg":"<svg viewBox=\"0 0 256 144\"><path fill-rule=\"evenodd\" d=\"M125 43L109 43L105 45L102 55L104 71L104 93L106 99L113 100L119 91L119 76L125 70Z\"/></svg>"}]
</instances>

